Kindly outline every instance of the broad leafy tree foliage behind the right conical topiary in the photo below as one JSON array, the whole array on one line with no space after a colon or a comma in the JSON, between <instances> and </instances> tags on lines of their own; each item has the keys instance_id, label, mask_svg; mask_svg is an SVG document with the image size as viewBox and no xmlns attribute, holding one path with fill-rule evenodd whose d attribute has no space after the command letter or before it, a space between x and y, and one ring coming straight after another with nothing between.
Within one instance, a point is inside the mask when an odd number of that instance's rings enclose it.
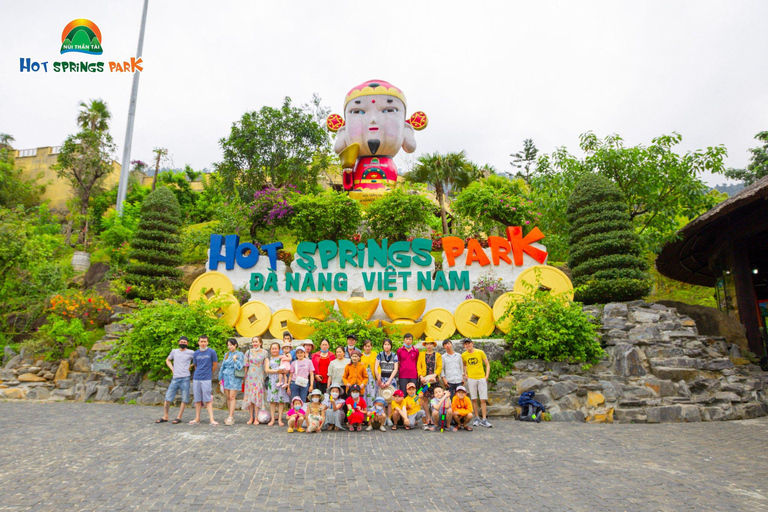
<instances>
[{"instance_id":1,"label":"broad leafy tree foliage behind the right conical topiary","mask_svg":"<svg viewBox=\"0 0 768 512\"><path fill-rule=\"evenodd\" d=\"M715 204L701 174L723 172L723 146L680 155L674 151L682 140L677 133L656 137L647 147L625 147L618 135L601 140L591 132L580 140L583 159L558 148L538 161L531 184L543 214L540 226L545 233L567 236L569 225L562 212L576 183L590 173L600 174L619 187L624 210L644 249L650 251L676 236L680 217L696 217Z\"/></svg>"}]
</instances>

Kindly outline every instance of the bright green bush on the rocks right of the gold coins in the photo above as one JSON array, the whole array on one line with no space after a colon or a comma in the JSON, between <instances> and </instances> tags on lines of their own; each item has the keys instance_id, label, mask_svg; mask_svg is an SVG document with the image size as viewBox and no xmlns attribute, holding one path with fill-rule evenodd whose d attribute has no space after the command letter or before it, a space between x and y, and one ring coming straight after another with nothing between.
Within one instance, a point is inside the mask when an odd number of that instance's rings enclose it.
<instances>
[{"instance_id":1,"label":"bright green bush on the rocks right of the gold coins","mask_svg":"<svg viewBox=\"0 0 768 512\"><path fill-rule=\"evenodd\" d=\"M511 362L544 359L596 363L604 355L600 326L577 302L537 290L523 301L512 301L505 316L513 319L504 337Z\"/></svg>"}]
</instances>

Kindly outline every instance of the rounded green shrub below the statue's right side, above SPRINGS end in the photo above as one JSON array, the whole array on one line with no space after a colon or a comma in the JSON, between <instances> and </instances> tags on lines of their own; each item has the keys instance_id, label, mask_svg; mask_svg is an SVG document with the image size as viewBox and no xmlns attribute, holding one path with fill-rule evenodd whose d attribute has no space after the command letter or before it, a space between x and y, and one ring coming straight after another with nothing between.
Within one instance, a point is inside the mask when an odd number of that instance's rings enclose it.
<instances>
[{"instance_id":1,"label":"rounded green shrub below the statue's right side, above SPRINGS end","mask_svg":"<svg viewBox=\"0 0 768 512\"><path fill-rule=\"evenodd\" d=\"M371 237L398 242L411 237L411 232L428 225L435 206L424 196L402 189L384 195L368 207L365 218Z\"/></svg>"}]
</instances>

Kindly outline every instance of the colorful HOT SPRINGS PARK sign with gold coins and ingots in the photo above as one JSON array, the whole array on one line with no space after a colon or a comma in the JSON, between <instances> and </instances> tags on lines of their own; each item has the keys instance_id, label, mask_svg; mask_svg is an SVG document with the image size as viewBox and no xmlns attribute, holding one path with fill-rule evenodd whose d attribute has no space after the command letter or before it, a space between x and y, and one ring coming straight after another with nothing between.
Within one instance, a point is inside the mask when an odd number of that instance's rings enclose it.
<instances>
[{"instance_id":1,"label":"colorful HOT SPRINGS PARK sign with gold coins and ingots","mask_svg":"<svg viewBox=\"0 0 768 512\"><path fill-rule=\"evenodd\" d=\"M446 313L452 315L459 306L462 314L475 322L490 315L492 327L491 307L483 304L486 308L481 308L474 304L480 301L468 301L473 284L490 276L500 278L512 290L521 273L543 265L547 259L546 248L538 243L544 238L538 228L523 236L522 228L513 226L506 234L506 238L490 237L487 248L475 239L465 242L457 237L444 237L440 269L436 269L430 253L432 241L424 238L392 243L300 242L293 262L287 267L277 257L281 242L263 245L259 250L250 242L240 243L236 235L211 235L207 272L190 287L190 299L210 299L217 294L233 297L235 289L245 288L252 302L241 310L259 311L259 315L251 317L251 323L264 330L264 306L272 316L282 318L283 327L292 323L298 328L301 317L296 313L309 311L311 301L338 301L345 314L351 310L365 311L371 321L382 320L385 329L392 323L407 323L413 324L414 331L418 332L420 326L421 331L443 335L448 328L443 326L454 329L453 320ZM413 309L417 303L418 311ZM422 313L421 322L417 322ZM225 314L229 319L229 309L222 310L221 315ZM426 320L434 320L434 325L427 325ZM232 323L247 327L242 318L235 318ZM488 325L487 321L480 324ZM275 330L280 328L276 326ZM483 332L486 330L482 327Z\"/></svg>"}]
</instances>

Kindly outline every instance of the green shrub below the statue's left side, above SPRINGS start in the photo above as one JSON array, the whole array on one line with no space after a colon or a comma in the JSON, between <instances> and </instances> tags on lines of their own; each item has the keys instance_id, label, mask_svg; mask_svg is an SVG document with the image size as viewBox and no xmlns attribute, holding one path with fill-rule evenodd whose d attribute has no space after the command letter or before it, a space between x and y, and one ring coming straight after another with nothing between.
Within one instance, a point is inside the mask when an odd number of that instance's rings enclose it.
<instances>
[{"instance_id":1,"label":"green shrub below the statue's left side, above SPRINGS start","mask_svg":"<svg viewBox=\"0 0 768 512\"><path fill-rule=\"evenodd\" d=\"M296 196L291 205L290 226L297 241L349 240L362 219L360 203L333 190Z\"/></svg>"}]
</instances>

